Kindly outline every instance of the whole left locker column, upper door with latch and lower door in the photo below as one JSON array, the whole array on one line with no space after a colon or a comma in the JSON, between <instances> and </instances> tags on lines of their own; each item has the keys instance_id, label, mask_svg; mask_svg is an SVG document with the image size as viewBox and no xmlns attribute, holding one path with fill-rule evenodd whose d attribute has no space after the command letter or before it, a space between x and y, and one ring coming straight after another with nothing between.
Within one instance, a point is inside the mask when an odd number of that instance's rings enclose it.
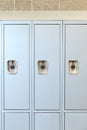
<instances>
[{"instance_id":1,"label":"whole left locker column, upper door with latch and lower door","mask_svg":"<svg viewBox=\"0 0 87 130\"><path fill-rule=\"evenodd\" d=\"M30 130L30 21L2 24L1 130Z\"/></svg>"}]
</instances>

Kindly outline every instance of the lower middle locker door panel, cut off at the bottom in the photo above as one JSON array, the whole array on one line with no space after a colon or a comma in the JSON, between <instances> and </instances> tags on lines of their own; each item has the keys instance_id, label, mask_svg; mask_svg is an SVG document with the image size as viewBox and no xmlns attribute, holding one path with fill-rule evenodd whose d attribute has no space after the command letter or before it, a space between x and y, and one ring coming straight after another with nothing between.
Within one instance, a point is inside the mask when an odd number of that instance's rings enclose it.
<instances>
[{"instance_id":1,"label":"lower middle locker door panel, cut off at the bottom","mask_svg":"<svg viewBox=\"0 0 87 130\"><path fill-rule=\"evenodd\" d=\"M35 130L59 130L59 114L36 113Z\"/></svg>"}]
</instances>

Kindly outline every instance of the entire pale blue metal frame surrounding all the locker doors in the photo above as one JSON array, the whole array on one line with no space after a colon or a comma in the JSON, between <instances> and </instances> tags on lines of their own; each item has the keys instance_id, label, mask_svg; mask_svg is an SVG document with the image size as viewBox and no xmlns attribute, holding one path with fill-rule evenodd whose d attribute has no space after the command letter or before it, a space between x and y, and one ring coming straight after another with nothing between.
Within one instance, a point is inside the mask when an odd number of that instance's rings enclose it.
<instances>
[{"instance_id":1,"label":"entire pale blue metal frame surrounding all the locker doors","mask_svg":"<svg viewBox=\"0 0 87 130\"><path fill-rule=\"evenodd\" d=\"M60 110L58 111L37 111L34 110L34 69L30 69L30 111L29 110L16 110L16 112L21 112L21 113L30 113L30 130L35 130L34 128L34 114L37 112L40 113L44 113L44 112L50 112L50 113L59 113L60 114L60 130L65 130L65 114L66 113L87 113L87 109L86 110L66 110L64 105L65 105L65 25L87 25L87 21L71 21L71 20L58 20L58 21L17 21L17 20L13 20L13 21L1 21L0 22L0 26L1 26L1 48L3 48L3 24L30 24L30 68L34 68L34 24L60 24L61 26L61 87L60 87ZM4 113L15 113L14 110L4 110L3 109L3 49L1 50L1 91L2 91L2 102L1 102L1 127L2 130L4 129Z\"/></svg>"}]
</instances>

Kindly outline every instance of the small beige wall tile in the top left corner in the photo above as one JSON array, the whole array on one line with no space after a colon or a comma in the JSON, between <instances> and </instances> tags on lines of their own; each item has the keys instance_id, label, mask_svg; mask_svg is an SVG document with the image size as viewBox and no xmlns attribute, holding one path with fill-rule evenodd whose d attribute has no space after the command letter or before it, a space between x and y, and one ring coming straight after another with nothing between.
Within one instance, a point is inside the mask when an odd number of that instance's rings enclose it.
<instances>
[{"instance_id":1,"label":"small beige wall tile in the top left corner","mask_svg":"<svg viewBox=\"0 0 87 130\"><path fill-rule=\"evenodd\" d=\"M1 1L0 0L0 11L13 11L14 0Z\"/></svg>"}]
</instances>

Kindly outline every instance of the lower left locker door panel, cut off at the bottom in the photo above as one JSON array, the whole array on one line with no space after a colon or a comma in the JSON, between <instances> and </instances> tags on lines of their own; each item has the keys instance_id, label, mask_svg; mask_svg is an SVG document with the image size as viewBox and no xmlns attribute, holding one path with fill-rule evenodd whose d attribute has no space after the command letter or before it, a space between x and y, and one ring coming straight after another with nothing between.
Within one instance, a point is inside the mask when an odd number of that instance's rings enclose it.
<instances>
[{"instance_id":1,"label":"lower left locker door panel, cut off at the bottom","mask_svg":"<svg viewBox=\"0 0 87 130\"><path fill-rule=\"evenodd\" d=\"M5 113L5 130L30 130L28 113Z\"/></svg>"}]
</instances>

